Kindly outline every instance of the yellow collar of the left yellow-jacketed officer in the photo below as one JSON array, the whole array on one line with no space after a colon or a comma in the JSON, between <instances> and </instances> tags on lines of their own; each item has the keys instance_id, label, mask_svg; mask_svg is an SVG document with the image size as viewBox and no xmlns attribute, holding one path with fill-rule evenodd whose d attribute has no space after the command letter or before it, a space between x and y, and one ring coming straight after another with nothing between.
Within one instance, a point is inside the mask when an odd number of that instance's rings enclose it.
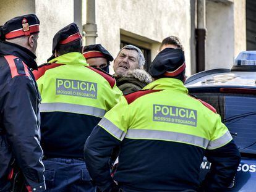
<instances>
[{"instance_id":1,"label":"yellow collar of the left yellow-jacketed officer","mask_svg":"<svg viewBox=\"0 0 256 192\"><path fill-rule=\"evenodd\" d=\"M69 52L52 59L49 61L49 63L89 66L85 60L85 57L83 57L83 54L80 52Z\"/></svg>"}]
</instances>

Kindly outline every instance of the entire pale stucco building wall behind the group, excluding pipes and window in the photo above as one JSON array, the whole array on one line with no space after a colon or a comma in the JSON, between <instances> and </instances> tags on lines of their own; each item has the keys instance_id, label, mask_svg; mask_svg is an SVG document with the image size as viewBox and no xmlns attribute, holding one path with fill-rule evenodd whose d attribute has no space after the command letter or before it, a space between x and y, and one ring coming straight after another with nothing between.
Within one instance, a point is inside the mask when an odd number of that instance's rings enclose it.
<instances>
[{"instance_id":1,"label":"entire pale stucco building wall behind the group, excluding pipes and window","mask_svg":"<svg viewBox=\"0 0 256 192\"><path fill-rule=\"evenodd\" d=\"M86 0L80 0L82 23L86 23ZM160 42L169 35L178 36L186 52L187 75L195 71L195 38L191 25L193 0L96 0L98 38L114 57L120 48L121 35L149 44L151 59ZM17 15L35 13L40 19L38 64L51 56L54 34L74 22L74 0L0 0L0 25ZM76 10L79 6L76 7ZM245 0L207 0L207 66L228 67L234 57L245 50ZM192 19L191 19L192 18ZM192 20L192 22L191 22ZM192 58L192 59L191 59ZM194 59L193 59L194 58ZM191 63L194 65L191 66ZM113 73L112 67L111 72Z\"/></svg>"}]
</instances>

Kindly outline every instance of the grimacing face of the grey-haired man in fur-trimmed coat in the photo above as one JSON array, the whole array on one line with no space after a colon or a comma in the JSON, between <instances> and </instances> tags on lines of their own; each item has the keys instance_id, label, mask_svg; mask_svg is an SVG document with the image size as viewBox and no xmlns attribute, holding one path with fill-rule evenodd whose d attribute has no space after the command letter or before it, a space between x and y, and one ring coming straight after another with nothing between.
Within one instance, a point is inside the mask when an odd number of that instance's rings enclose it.
<instances>
[{"instance_id":1,"label":"grimacing face of the grey-haired man in fur-trimmed coat","mask_svg":"<svg viewBox=\"0 0 256 192\"><path fill-rule=\"evenodd\" d=\"M127 70L139 68L138 52L135 50L122 49L114 59L114 72L116 76L124 75Z\"/></svg>"}]
</instances>

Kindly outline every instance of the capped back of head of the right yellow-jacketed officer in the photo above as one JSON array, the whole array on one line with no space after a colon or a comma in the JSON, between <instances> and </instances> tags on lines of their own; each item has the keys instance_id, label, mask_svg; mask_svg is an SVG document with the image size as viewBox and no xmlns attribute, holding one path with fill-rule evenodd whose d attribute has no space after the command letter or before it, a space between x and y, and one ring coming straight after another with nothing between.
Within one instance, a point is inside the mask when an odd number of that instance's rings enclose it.
<instances>
[{"instance_id":1,"label":"capped back of head of the right yellow-jacketed officer","mask_svg":"<svg viewBox=\"0 0 256 192\"><path fill-rule=\"evenodd\" d=\"M176 78L185 80L185 56L182 49L163 49L150 65L148 73L155 78Z\"/></svg>"}]
</instances>

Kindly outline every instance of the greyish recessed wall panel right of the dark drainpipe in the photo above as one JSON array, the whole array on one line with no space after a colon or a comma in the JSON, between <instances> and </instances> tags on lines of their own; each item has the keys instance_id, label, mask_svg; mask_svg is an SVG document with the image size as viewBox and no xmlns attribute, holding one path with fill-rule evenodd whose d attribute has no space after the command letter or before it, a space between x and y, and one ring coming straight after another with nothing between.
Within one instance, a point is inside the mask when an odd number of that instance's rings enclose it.
<instances>
[{"instance_id":1,"label":"greyish recessed wall panel right of the dark drainpipe","mask_svg":"<svg viewBox=\"0 0 256 192\"><path fill-rule=\"evenodd\" d=\"M234 4L207 1L206 69L231 68L234 57Z\"/></svg>"}]
</instances>

